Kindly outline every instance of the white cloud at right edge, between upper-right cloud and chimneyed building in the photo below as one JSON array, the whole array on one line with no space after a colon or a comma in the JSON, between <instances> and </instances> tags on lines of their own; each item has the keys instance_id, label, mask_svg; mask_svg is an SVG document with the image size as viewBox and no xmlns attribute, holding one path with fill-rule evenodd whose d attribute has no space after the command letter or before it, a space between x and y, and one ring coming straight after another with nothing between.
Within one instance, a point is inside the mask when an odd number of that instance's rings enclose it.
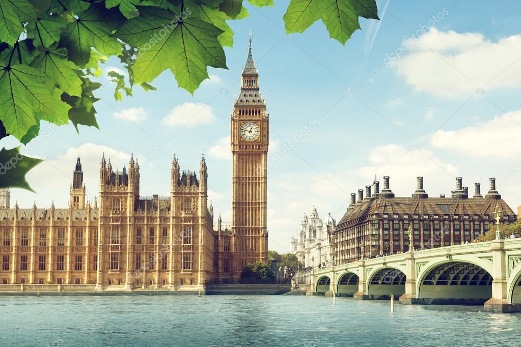
<instances>
[{"instance_id":1,"label":"white cloud at right edge, between upper-right cloud and chimneyed building","mask_svg":"<svg viewBox=\"0 0 521 347\"><path fill-rule=\"evenodd\" d=\"M448 149L487 161L493 157L517 158L521 147L521 110L459 130L439 130L432 135L432 147Z\"/></svg>"}]
</instances>

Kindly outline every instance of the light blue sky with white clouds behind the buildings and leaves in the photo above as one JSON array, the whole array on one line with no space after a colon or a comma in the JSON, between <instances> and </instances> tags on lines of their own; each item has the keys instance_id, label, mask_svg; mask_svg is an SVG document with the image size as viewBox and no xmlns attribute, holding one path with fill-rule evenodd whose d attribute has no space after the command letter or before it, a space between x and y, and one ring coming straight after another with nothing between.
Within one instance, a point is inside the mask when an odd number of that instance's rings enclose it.
<instances>
[{"instance_id":1,"label":"light blue sky with white clouds behind the buildings and leaves","mask_svg":"<svg viewBox=\"0 0 521 347\"><path fill-rule=\"evenodd\" d=\"M185 170L199 170L204 151L214 210L230 221L229 115L251 29L270 113L270 249L289 250L313 204L324 219L331 212L339 220L349 194L375 175L391 176L398 196L414 192L416 176L425 177L431 196L450 195L457 176L471 193L474 182L486 192L488 178L497 177L507 203L520 204L521 4L379 1L382 20L362 18L362 30L344 47L320 21L303 34L285 35L288 3L247 6L249 18L231 21L229 70L209 69L212 80L193 96L165 71L152 83L158 91L136 87L133 97L117 102L114 84L100 76L101 131L80 127L78 135L64 126L33 144L28 152L46 159L28 175L38 194L13 189L12 199L27 208L33 200L48 207L53 199L67 207L78 155L93 199L102 151L118 168L136 153L141 195L168 195L173 151ZM400 57L386 59L392 53ZM102 67L118 68L117 59ZM6 138L0 145L16 142Z\"/></svg>"}]
</instances>

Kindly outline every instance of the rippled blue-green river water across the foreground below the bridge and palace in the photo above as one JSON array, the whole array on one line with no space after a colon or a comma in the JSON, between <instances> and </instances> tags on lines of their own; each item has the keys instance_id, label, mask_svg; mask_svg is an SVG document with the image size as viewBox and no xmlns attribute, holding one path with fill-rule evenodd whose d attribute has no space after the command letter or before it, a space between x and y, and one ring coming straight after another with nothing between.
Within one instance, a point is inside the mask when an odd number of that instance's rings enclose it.
<instances>
[{"instance_id":1,"label":"rippled blue-green river water across the foreground below the bridge and palace","mask_svg":"<svg viewBox=\"0 0 521 347\"><path fill-rule=\"evenodd\" d=\"M1 345L521 345L521 314L304 296L0 297Z\"/></svg>"}]
</instances>

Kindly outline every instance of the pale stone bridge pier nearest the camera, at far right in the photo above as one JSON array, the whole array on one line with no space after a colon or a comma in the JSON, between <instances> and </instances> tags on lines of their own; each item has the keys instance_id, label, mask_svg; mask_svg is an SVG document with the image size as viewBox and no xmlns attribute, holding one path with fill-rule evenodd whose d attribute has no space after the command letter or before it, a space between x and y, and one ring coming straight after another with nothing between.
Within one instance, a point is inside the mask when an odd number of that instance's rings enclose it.
<instances>
[{"instance_id":1,"label":"pale stone bridge pier nearest the camera, at far right","mask_svg":"<svg viewBox=\"0 0 521 347\"><path fill-rule=\"evenodd\" d=\"M492 298L485 303L485 312L518 312L517 305L508 303L505 241L491 241L490 250L492 251Z\"/></svg>"}]
</instances>

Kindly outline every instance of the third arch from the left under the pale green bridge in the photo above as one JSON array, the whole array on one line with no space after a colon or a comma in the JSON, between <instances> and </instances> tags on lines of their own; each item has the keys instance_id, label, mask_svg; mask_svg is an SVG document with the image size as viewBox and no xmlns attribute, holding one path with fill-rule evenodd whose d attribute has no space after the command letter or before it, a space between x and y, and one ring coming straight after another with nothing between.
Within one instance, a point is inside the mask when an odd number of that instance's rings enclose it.
<instances>
[{"instance_id":1,"label":"third arch from the left under the pale green bridge","mask_svg":"<svg viewBox=\"0 0 521 347\"><path fill-rule=\"evenodd\" d=\"M406 276L399 268L386 266L375 269L367 277L367 295L370 299L389 300L405 294Z\"/></svg>"}]
</instances>

